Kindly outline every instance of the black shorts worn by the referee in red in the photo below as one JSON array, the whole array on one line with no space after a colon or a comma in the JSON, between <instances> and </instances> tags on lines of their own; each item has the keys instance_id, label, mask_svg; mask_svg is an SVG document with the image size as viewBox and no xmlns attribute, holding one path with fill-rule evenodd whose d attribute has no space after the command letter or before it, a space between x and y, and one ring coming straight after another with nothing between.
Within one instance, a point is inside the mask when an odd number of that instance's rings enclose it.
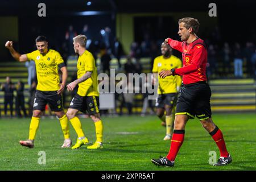
<instances>
[{"instance_id":1,"label":"black shorts worn by the referee in red","mask_svg":"<svg viewBox=\"0 0 256 182\"><path fill-rule=\"evenodd\" d=\"M210 96L212 92L205 81L184 85L177 100L176 114L186 114L191 118L195 115L200 120L212 117Z\"/></svg>"}]
</instances>

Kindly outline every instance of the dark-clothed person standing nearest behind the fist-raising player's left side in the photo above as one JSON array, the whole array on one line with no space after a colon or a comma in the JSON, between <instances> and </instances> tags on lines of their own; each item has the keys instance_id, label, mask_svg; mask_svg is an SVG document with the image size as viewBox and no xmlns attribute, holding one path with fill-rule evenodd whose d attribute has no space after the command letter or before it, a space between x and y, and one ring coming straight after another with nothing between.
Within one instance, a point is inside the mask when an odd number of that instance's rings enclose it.
<instances>
[{"instance_id":1,"label":"dark-clothed person standing nearest behind the fist-raising player's left side","mask_svg":"<svg viewBox=\"0 0 256 182\"><path fill-rule=\"evenodd\" d=\"M25 100L24 100L24 84L21 80L18 81L18 85L16 86L16 99L15 99L15 109L16 109L16 115L21 118L22 114L20 113L20 110L23 111L24 117L27 117L27 112L25 109Z\"/></svg>"}]
</instances>

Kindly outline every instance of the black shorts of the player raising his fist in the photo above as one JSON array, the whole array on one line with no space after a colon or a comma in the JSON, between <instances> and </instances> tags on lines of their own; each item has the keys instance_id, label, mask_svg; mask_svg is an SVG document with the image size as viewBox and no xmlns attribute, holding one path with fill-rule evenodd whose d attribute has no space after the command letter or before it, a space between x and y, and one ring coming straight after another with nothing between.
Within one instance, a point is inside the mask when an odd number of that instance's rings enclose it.
<instances>
[{"instance_id":1,"label":"black shorts of the player raising his fist","mask_svg":"<svg viewBox=\"0 0 256 182\"><path fill-rule=\"evenodd\" d=\"M49 104L51 111L62 111L63 100L62 95L57 91L40 91L36 90L33 110L46 110L46 104Z\"/></svg>"}]
</instances>

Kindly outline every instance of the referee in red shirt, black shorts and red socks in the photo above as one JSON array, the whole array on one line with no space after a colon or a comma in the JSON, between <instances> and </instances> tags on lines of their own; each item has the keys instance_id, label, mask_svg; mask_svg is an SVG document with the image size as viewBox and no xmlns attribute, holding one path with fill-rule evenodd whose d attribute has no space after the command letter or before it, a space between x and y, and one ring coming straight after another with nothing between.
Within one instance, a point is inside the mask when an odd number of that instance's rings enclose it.
<instances>
[{"instance_id":1,"label":"referee in red shirt, black shorts and red socks","mask_svg":"<svg viewBox=\"0 0 256 182\"><path fill-rule=\"evenodd\" d=\"M224 166L232 162L222 132L212 121L210 109L211 90L207 84L206 64L207 48L204 40L196 34L199 30L199 21L195 18L182 18L179 20L179 34L181 42L167 38L166 44L182 53L183 68L162 71L159 76L183 76L184 87L180 91L177 101L174 121L174 134L168 155L151 162L158 166L174 166L177 152L184 141L185 125L190 118L199 118L202 126L212 136L220 150L220 158L213 166Z\"/></svg>"}]
</instances>

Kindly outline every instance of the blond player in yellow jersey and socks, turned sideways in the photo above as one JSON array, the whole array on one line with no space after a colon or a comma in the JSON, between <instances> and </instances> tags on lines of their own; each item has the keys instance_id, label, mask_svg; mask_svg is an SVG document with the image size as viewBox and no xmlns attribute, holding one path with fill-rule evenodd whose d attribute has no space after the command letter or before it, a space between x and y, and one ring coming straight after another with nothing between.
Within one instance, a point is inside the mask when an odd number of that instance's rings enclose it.
<instances>
[{"instance_id":1,"label":"blond player in yellow jersey and socks, turned sideways","mask_svg":"<svg viewBox=\"0 0 256 182\"><path fill-rule=\"evenodd\" d=\"M73 41L75 53L79 54L79 59L77 60L77 80L68 84L67 90L72 91L77 84L79 85L79 88L67 111L67 117L77 133L77 143L72 149L79 148L83 144L89 143L82 131L80 119L76 116L79 111L83 113L86 113L86 111L88 112L96 129L96 142L87 148L102 148L103 125L98 109L100 94L98 93L98 74L95 60L92 53L85 49L85 35L77 35L73 38Z\"/></svg>"}]
</instances>

